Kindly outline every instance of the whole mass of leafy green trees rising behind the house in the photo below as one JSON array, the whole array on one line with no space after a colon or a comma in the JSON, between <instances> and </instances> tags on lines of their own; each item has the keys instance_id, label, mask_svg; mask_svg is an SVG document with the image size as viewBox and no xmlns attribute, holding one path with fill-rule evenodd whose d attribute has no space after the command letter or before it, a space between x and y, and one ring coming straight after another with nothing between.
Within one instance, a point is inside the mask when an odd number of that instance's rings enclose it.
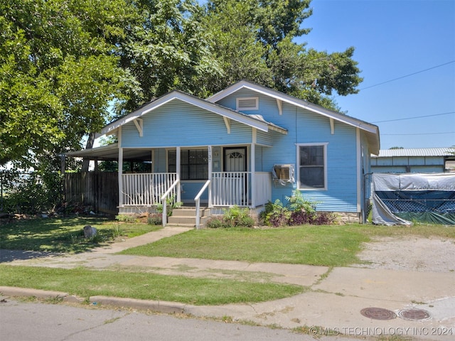
<instances>
[{"instance_id":1,"label":"whole mass of leafy green trees rising behind the house","mask_svg":"<svg viewBox=\"0 0 455 341\"><path fill-rule=\"evenodd\" d=\"M295 43L310 0L0 0L0 165L36 164L166 92L242 79L336 108L353 48ZM115 108L115 109L112 109Z\"/></svg>"}]
</instances>

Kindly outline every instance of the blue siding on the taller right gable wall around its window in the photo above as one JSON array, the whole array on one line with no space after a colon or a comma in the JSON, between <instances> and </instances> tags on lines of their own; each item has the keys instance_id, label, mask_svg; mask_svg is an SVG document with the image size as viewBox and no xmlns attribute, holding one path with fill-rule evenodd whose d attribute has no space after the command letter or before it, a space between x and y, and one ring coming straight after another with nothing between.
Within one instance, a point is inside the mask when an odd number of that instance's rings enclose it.
<instances>
[{"instance_id":1,"label":"blue siding on the taller right gable wall around its window","mask_svg":"<svg viewBox=\"0 0 455 341\"><path fill-rule=\"evenodd\" d=\"M282 104L279 115L277 101L250 90L240 90L220 101L220 104L235 109L237 97L259 97L259 109L243 111L245 114L260 114L266 121L288 129L288 134L269 134L273 148L262 148L262 171L272 171L274 164L291 163L297 167L297 144L327 144L327 190L302 190L306 199L319 202L318 210L357 212L357 138L353 126L335 121L335 133L331 134L328 118L307 110ZM258 134L259 142L259 134ZM258 150L257 150L258 151ZM369 152L367 149L367 158ZM368 161L364 167L368 168ZM297 169L295 169L297 175ZM359 176L359 178L358 178ZM297 180L297 179L296 179ZM272 201L291 195L293 186L275 184L272 188Z\"/></svg>"}]
</instances>

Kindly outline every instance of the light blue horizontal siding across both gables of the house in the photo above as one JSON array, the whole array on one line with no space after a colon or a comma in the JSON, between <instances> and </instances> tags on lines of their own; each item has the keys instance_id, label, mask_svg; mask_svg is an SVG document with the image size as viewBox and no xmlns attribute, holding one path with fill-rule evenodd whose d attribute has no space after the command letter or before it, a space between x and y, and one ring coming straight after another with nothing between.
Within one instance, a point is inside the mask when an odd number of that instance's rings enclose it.
<instances>
[{"instance_id":1,"label":"light blue horizontal siding across both gables of the house","mask_svg":"<svg viewBox=\"0 0 455 341\"><path fill-rule=\"evenodd\" d=\"M302 190L302 193L306 199L319 203L318 210L357 212L357 186L362 175L357 172L355 127L335 121L334 134L331 134L331 124L327 117L284 102L282 115L279 115L276 99L245 89L218 103L235 109L237 97L259 97L259 109L245 111L245 114L260 114L266 121L288 130L288 134L257 131L255 171L271 172L274 164L290 163L294 165L297 176L297 145L325 144L326 190ZM231 120L228 134L223 117L179 100L164 104L144 115L143 119L143 137L139 137L133 122L122 127L122 147L154 148L155 172L167 171L165 148L213 146L213 171L223 170L223 146L247 146L248 155L251 153L250 126ZM365 146L361 162L364 170L369 171L368 143L363 134L360 138L361 145ZM250 169L250 165L248 167ZM182 199L193 200L202 185L203 181L183 182ZM292 184L272 185L272 201L279 199L286 203L285 197L291 195L292 190ZM203 200L206 199L205 194Z\"/></svg>"}]
</instances>

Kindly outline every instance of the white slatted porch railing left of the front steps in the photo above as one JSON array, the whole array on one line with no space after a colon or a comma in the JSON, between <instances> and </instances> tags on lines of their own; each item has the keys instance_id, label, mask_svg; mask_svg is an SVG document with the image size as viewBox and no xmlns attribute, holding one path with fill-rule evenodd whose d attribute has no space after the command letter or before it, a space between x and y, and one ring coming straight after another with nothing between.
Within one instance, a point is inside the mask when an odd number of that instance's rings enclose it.
<instances>
[{"instance_id":1,"label":"white slatted porch railing left of the front steps","mask_svg":"<svg viewBox=\"0 0 455 341\"><path fill-rule=\"evenodd\" d=\"M154 206L177 180L176 173L122 174L122 203L124 206ZM173 193L176 195L176 188Z\"/></svg>"}]
</instances>

